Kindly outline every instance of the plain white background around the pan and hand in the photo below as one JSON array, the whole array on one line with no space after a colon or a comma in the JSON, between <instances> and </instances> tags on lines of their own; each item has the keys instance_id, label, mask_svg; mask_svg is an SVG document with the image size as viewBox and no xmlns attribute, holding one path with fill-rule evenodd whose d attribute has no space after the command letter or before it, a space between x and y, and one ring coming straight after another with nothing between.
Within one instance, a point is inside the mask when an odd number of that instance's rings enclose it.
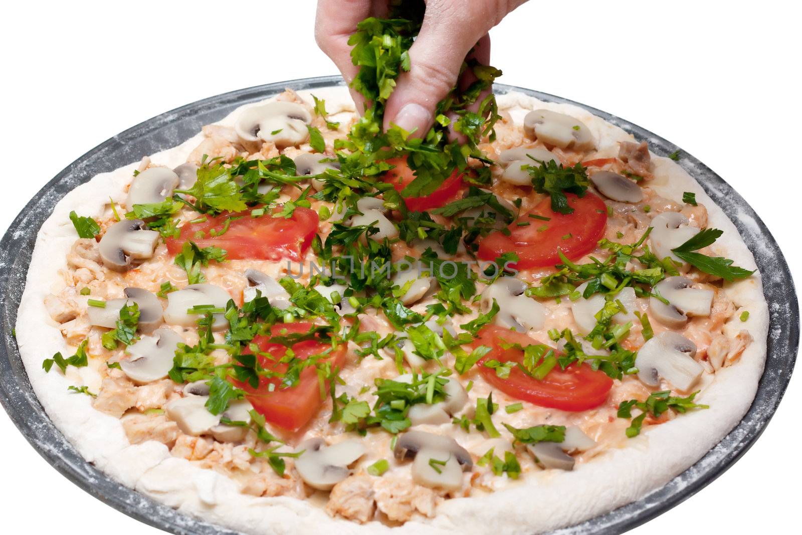
<instances>
[{"instance_id":1,"label":"plain white background around the pan and hand","mask_svg":"<svg viewBox=\"0 0 802 535\"><path fill-rule=\"evenodd\" d=\"M493 64L505 83L610 111L697 156L751 203L802 283L798 9L532 0L493 30ZM2 230L59 170L134 124L225 91L336 73L314 44L312 0L3 10ZM802 371L742 460L633 533L792 531L800 405ZM2 411L0 451L5 533L31 519L36 533L158 533L60 476Z\"/></svg>"}]
</instances>

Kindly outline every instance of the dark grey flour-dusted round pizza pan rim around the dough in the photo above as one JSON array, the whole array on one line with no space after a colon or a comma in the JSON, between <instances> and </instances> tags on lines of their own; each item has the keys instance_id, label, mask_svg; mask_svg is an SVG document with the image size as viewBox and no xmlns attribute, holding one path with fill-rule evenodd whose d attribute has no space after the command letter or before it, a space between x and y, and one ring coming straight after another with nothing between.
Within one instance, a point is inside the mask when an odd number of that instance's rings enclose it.
<instances>
[{"instance_id":1,"label":"dark grey flour-dusted round pizza pan rim around the dough","mask_svg":"<svg viewBox=\"0 0 802 535\"><path fill-rule=\"evenodd\" d=\"M87 182L99 172L108 172L138 161L143 156L174 147L194 136L201 126L220 120L241 104L276 95L285 87L314 90L342 84L338 76L270 83L213 96L138 124L93 148L59 172L30 200L0 242L0 402L30 444L54 468L86 492L130 517L180 535L237 533L178 513L112 480L83 460L47 417L22 367L13 331L38 229L55 204L75 186ZM495 91L500 94L520 91L537 99L584 107L632 133L638 140L648 141L651 150L660 156L678 150L677 146L662 137L593 107L521 87L496 84ZM641 500L579 525L561 529L557 532L561 535L622 533L698 492L754 444L776 411L791 379L799 344L799 307L791 273L779 245L755 211L720 176L686 152L682 152L678 164L699 180L707 194L727 213L755 254L755 261L763 273L764 293L770 314L766 370L747 414L699 462ZM743 221L749 219L755 223L744 224Z\"/></svg>"}]
</instances>

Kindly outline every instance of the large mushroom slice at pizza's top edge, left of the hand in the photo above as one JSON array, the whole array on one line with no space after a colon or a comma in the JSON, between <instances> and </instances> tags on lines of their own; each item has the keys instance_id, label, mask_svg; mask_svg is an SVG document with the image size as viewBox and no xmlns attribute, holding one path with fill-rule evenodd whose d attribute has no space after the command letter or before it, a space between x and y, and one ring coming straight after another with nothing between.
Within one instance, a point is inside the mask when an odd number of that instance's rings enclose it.
<instances>
[{"instance_id":1,"label":"large mushroom slice at pizza's top edge, left of the hand","mask_svg":"<svg viewBox=\"0 0 802 535\"><path fill-rule=\"evenodd\" d=\"M312 116L306 107L293 102L269 102L252 106L237 119L234 129L245 141L270 141L277 147L302 144L309 137Z\"/></svg>"}]
</instances>

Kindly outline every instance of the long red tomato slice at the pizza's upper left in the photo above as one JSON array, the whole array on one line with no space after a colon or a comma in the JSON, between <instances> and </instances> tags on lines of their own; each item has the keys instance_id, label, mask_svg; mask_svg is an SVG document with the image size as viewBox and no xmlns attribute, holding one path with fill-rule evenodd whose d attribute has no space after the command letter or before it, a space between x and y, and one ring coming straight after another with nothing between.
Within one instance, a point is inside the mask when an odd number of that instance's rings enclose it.
<instances>
[{"instance_id":1,"label":"long red tomato slice at the pizza's upper left","mask_svg":"<svg viewBox=\"0 0 802 535\"><path fill-rule=\"evenodd\" d=\"M223 233L229 217L240 219L231 221L229 229ZM223 214L208 217L207 221L200 223L184 225L179 237L167 239L167 250L171 254L180 253L184 242L192 240L201 248L216 245L225 249L229 260L254 258L277 261L290 258L300 261L318 232L319 222L318 213L308 208L296 208L289 218L269 215L251 217L249 212ZM222 235L213 236L209 232L212 229Z\"/></svg>"}]
</instances>

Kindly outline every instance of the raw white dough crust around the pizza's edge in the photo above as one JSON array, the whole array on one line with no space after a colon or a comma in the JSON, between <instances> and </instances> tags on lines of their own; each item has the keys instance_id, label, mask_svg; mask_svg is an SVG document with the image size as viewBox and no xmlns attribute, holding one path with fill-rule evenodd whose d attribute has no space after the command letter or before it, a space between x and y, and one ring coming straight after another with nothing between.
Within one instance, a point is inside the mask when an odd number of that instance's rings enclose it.
<instances>
[{"instance_id":1,"label":"raw white dough crust around the pizza's edge","mask_svg":"<svg viewBox=\"0 0 802 535\"><path fill-rule=\"evenodd\" d=\"M330 110L353 109L345 87L316 89ZM302 95L310 99L308 92ZM510 93L498 97L501 109L510 112L520 124L527 110L539 107L561 111L583 121L602 146L634 140L621 128L570 104L543 103L527 95ZM237 111L218 124L233 124ZM174 167L184 163L189 152L200 143L199 133L176 148L151 156L155 164ZM613 148L610 148L613 150ZM611 155L612 155L611 154ZM735 225L704 193L699 184L673 161L652 155L654 180L650 187L662 197L679 201L683 192L694 192L707 207L709 226L722 229L723 237L713 246L747 269L755 261L741 240ZM644 428L640 436L628 440L626 447L608 450L573 472L533 472L523 484L482 496L455 498L439 505L434 518L407 521L388 527L377 521L358 525L332 518L310 501L289 497L254 497L241 494L228 477L198 468L188 460L172 457L164 444L145 442L131 445L119 419L95 411L85 395L67 391L71 384L99 384L90 368L70 368L67 377L47 374L42 361L55 351L69 352L58 326L47 314L44 297L51 292L58 271L66 269L66 255L75 242L75 231L68 214L75 209L82 215L101 213L108 194L123 201L124 188L137 164L101 173L67 194L56 205L51 217L38 233L30 261L25 292L18 311L17 341L22 361L39 401L67 440L87 461L128 487L205 521L240 529L245 533L306 533L325 529L328 533L484 533L493 525L499 533L536 533L573 525L638 500L662 487L674 476L694 464L738 424L754 398L763 374L768 335L768 306L761 278L725 283L724 291L739 307L748 310L747 322L736 313L725 333L734 336L747 329L754 341L737 363L717 371L715 379L699 394L697 401L711 408L691 411L670 422ZM670 187L669 187L670 186ZM748 217L738 217L747 224ZM746 220L744 220L746 218ZM73 375L75 374L75 375ZM93 381L95 383L93 383ZM96 390L96 389L95 389ZM693 437L693 440L688 440ZM47 445L45 445L47 447ZM713 456L711 462L716 462ZM88 474L87 478L90 477ZM511 507L510 505L514 505ZM184 520L185 522L185 520Z\"/></svg>"}]
</instances>

